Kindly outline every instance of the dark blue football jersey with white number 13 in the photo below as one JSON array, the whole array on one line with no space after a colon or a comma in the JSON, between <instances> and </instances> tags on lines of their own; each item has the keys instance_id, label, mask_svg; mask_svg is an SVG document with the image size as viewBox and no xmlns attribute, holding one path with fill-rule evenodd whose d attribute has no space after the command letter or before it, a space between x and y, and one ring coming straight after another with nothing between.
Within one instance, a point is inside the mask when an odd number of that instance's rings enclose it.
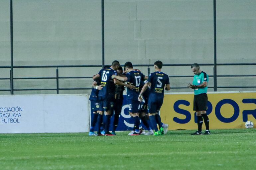
<instances>
[{"instance_id":1,"label":"dark blue football jersey with white number 13","mask_svg":"<svg viewBox=\"0 0 256 170\"><path fill-rule=\"evenodd\" d=\"M134 85L135 89L127 88L127 99L138 100L139 88L144 80L144 74L140 71L132 70L126 74L127 82Z\"/></svg>"}]
</instances>

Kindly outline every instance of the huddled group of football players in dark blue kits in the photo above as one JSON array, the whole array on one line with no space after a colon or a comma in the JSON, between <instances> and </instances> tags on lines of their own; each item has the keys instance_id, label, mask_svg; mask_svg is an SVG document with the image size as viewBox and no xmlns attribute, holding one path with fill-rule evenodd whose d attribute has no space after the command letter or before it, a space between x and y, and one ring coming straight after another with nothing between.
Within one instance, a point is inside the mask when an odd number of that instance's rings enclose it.
<instances>
[{"instance_id":1,"label":"huddled group of football players in dark blue kits","mask_svg":"<svg viewBox=\"0 0 256 170\"><path fill-rule=\"evenodd\" d=\"M116 135L124 87L127 89L129 114L134 120L133 131L129 135L166 134L168 125L162 123L159 110L163 104L164 90L170 90L170 82L168 75L161 71L162 66L161 61L156 61L155 72L145 76L140 70L134 69L131 62L126 62L122 69L118 61L113 61L111 66L105 66L94 75L89 98L92 108L89 136ZM114 116L114 122L110 133L111 116ZM147 133L140 128L140 120L148 130ZM94 129L95 125L98 129ZM97 134L94 130L97 130Z\"/></svg>"}]
</instances>

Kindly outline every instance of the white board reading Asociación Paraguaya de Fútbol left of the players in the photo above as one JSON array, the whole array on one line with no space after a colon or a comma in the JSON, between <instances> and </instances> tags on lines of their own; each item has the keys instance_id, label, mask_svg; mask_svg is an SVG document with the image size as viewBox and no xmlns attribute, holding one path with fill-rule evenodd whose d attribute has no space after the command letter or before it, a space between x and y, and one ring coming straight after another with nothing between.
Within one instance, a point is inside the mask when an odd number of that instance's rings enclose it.
<instances>
[{"instance_id":1,"label":"white board reading Asociaci\u00f3n Paraguaya de F\u00fatbol left of the players","mask_svg":"<svg viewBox=\"0 0 256 170\"><path fill-rule=\"evenodd\" d=\"M89 131L89 95L2 95L0 133Z\"/></svg>"}]
</instances>

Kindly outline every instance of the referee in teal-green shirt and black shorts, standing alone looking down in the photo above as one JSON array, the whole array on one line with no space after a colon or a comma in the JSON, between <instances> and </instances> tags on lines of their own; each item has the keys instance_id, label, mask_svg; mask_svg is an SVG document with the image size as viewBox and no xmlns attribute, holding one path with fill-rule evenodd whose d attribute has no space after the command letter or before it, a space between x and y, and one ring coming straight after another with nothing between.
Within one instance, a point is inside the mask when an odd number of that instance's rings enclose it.
<instances>
[{"instance_id":1,"label":"referee in teal-green shirt and black shorts, standing alone looking down","mask_svg":"<svg viewBox=\"0 0 256 170\"><path fill-rule=\"evenodd\" d=\"M197 117L197 131L192 133L191 135L201 135L202 134L202 124L204 121L206 130L204 135L209 135L209 118L206 114L207 110L207 83L208 83L208 75L200 70L198 64L191 65L192 72L194 75L193 83L189 84L188 87L194 90L194 107L193 110L196 113Z\"/></svg>"}]
</instances>

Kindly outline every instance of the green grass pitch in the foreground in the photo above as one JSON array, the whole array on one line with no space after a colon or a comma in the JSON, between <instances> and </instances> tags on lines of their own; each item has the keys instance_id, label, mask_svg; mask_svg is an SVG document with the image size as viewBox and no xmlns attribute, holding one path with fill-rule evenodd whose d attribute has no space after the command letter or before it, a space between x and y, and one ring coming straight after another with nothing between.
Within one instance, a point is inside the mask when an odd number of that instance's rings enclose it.
<instances>
[{"instance_id":1,"label":"green grass pitch in the foreground","mask_svg":"<svg viewBox=\"0 0 256 170\"><path fill-rule=\"evenodd\" d=\"M256 130L164 136L0 134L0 169L255 169Z\"/></svg>"}]
</instances>

